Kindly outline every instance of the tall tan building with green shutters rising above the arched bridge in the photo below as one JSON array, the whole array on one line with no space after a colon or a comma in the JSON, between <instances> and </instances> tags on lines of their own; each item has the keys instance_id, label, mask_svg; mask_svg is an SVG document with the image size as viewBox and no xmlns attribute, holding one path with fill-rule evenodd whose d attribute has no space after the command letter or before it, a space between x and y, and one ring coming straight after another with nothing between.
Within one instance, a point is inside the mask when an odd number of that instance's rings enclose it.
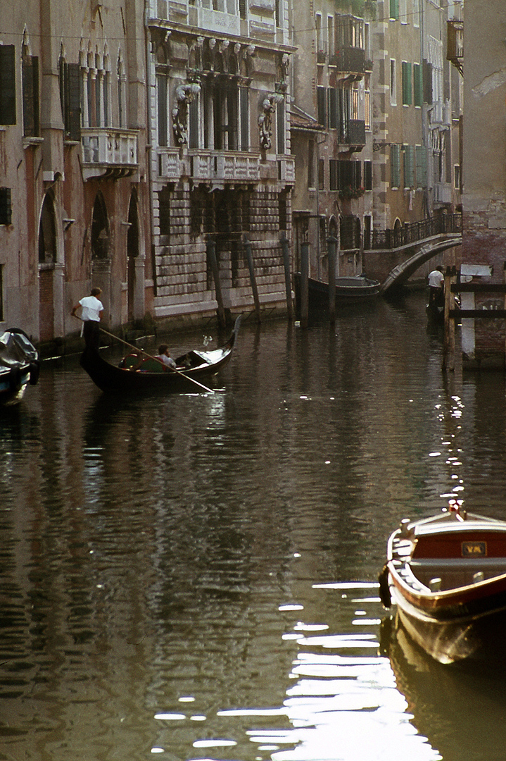
<instances>
[{"instance_id":1,"label":"tall tan building with green shutters rising above the arched bridge","mask_svg":"<svg viewBox=\"0 0 506 761\"><path fill-rule=\"evenodd\" d=\"M446 56L448 12L447 0L377 2L373 174L380 230L460 203L462 84Z\"/></svg>"}]
</instances>

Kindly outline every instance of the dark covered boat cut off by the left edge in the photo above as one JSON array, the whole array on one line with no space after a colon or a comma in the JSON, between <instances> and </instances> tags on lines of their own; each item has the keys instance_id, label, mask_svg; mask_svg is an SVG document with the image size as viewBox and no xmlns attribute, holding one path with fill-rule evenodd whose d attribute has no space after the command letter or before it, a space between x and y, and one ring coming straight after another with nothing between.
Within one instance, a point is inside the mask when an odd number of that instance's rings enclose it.
<instances>
[{"instance_id":1,"label":"dark covered boat cut off by the left edge","mask_svg":"<svg viewBox=\"0 0 506 761\"><path fill-rule=\"evenodd\" d=\"M21 402L28 384L39 380L39 354L19 328L9 328L0 335L0 405Z\"/></svg>"}]
</instances>

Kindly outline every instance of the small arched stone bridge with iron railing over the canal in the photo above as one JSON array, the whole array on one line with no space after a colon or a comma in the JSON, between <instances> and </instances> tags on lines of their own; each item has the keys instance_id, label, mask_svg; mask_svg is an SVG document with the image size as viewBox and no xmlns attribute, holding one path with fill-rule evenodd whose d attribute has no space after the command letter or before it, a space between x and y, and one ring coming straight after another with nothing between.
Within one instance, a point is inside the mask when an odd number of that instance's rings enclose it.
<instances>
[{"instance_id":1,"label":"small arched stone bridge with iron railing over the canal","mask_svg":"<svg viewBox=\"0 0 506 761\"><path fill-rule=\"evenodd\" d=\"M382 293L394 291L422 264L460 244L460 215L406 224L400 230L379 231L377 237L373 234L371 248L363 252L363 269L368 278L381 282Z\"/></svg>"}]
</instances>

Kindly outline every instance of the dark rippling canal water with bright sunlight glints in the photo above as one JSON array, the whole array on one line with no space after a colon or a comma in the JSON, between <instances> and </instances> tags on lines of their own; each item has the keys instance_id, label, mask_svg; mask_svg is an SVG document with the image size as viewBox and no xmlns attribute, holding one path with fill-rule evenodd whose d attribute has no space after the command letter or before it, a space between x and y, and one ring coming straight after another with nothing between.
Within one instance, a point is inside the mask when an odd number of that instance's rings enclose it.
<instances>
[{"instance_id":1,"label":"dark rippling canal water with bright sunlight glints","mask_svg":"<svg viewBox=\"0 0 506 761\"><path fill-rule=\"evenodd\" d=\"M216 393L44 363L0 418L0 759L502 761L504 677L378 600L401 518L506 514L504 378L441 351L413 294L244 320Z\"/></svg>"}]
</instances>

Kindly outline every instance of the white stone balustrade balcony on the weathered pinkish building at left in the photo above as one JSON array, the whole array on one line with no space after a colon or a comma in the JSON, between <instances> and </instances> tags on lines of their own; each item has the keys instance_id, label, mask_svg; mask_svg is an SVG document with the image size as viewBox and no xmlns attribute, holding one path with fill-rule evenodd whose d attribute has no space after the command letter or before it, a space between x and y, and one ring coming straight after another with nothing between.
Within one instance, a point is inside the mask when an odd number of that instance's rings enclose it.
<instances>
[{"instance_id":1,"label":"white stone balustrade balcony on the weathered pinkish building at left","mask_svg":"<svg viewBox=\"0 0 506 761\"><path fill-rule=\"evenodd\" d=\"M138 170L138 132L134 129L81 129L84 180L118 180Z\"/></svg>"}]
</instances>

